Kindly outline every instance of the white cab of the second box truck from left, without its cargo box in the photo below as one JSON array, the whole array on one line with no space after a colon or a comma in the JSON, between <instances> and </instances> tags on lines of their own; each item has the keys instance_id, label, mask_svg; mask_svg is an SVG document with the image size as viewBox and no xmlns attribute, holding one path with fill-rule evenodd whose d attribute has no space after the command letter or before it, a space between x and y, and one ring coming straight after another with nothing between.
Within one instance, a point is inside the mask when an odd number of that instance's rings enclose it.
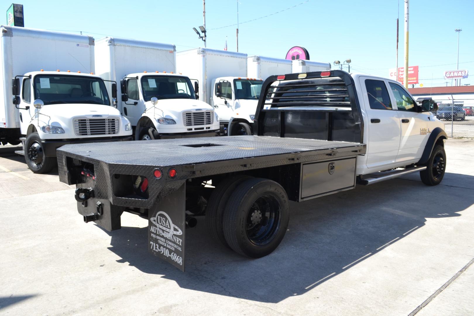
<instances>
[{"instance_id":1,"label":"white cab of the second box truck from left, without its cargo box","mask_svg":"<svg viewBox=\"0 0 474 316\"><path fill-rule=\"evenodd\" d=\"M219 115L198 99L191 80L181 74L140 72L120 81L123 115L136 140L216 136ZM196 90L195 90L196 88Z\"/></svg>"}]
</instances>

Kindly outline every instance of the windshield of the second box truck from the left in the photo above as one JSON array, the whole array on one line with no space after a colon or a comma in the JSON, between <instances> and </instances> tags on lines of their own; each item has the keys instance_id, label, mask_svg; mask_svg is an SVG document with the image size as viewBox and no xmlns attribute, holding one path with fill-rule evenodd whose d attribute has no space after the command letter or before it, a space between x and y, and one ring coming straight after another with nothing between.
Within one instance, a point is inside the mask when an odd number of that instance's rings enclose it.
<instances>
[{"instance_id":1,"label":"windshield of the second box truck from the left","mask_svg":"<svg viewBox=\"0 0 474 316\"><path fill-rule=\"evenodd\" d=\"M191 80L177 76L143 76L143 99L196 99Z\"/></svg>"}]
</instances>

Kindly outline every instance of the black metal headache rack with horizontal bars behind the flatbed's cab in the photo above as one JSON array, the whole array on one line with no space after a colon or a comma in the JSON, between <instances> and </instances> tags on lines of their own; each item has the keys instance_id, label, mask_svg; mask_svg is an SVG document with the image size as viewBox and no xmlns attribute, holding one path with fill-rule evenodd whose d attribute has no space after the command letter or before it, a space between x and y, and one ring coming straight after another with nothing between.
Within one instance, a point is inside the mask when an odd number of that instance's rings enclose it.
<instances>
[{"instance_id":1,"label":"black metal headache rack with horizontal bars behind the flatbed's cab","mask_svg":"<svg viewBox=\"0 0 474 316\"><path fill-rule=\"evenodd\" d=\"M354 80L341 70L268 77L255 114L256 135L363 143Z\"/></svg>"}]
</instances>

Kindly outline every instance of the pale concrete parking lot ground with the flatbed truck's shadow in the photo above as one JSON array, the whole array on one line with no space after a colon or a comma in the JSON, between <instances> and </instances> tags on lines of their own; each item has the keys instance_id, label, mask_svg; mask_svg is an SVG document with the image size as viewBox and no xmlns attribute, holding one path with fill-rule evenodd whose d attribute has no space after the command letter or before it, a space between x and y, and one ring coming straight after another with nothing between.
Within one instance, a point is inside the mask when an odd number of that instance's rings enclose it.
<instances>
[{"instance_id":1,"label":"pale concrete parking lot ground with the flatbed truck's shadow","mask_svg":"<svg viewBox=\"0 0 474 316\"><path fill-rule=\"evenodd\" d=\"M472 315L474 142L447 173L292 203L282 244L247 259L186 232L186 272L147 251L147 221L84 224L57 171L0 148L0 315ZM421 308L422 307L422 308Z\"/></svg>"}]
</instances>

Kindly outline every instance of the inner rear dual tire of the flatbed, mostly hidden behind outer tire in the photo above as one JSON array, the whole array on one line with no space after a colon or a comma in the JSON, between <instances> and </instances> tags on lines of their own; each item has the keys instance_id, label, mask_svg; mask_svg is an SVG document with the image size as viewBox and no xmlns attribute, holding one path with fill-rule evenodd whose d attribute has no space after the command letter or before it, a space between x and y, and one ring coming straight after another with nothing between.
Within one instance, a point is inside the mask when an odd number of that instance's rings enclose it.
<instances>
[{"instance_id":1,"label":"inner rear dual tire of the flatbed, mostly hidden behind outer tire","mask_svg":"<svg viewBox=\"0 0 474 316\"><path fill-rule=\"evenodd\" d=\"M247 179L251 178L250 176L244 174L238 174L233 177L229 177L220 181L216 188L212 191L207 207L206 207L206 226L211 237L226 247L229 247L227 244L226 238L224 237L224 228L223 228L223 213L224 208L226 207L227 201L234 192L235 188Z\"/></svg>"}]
</instances>

